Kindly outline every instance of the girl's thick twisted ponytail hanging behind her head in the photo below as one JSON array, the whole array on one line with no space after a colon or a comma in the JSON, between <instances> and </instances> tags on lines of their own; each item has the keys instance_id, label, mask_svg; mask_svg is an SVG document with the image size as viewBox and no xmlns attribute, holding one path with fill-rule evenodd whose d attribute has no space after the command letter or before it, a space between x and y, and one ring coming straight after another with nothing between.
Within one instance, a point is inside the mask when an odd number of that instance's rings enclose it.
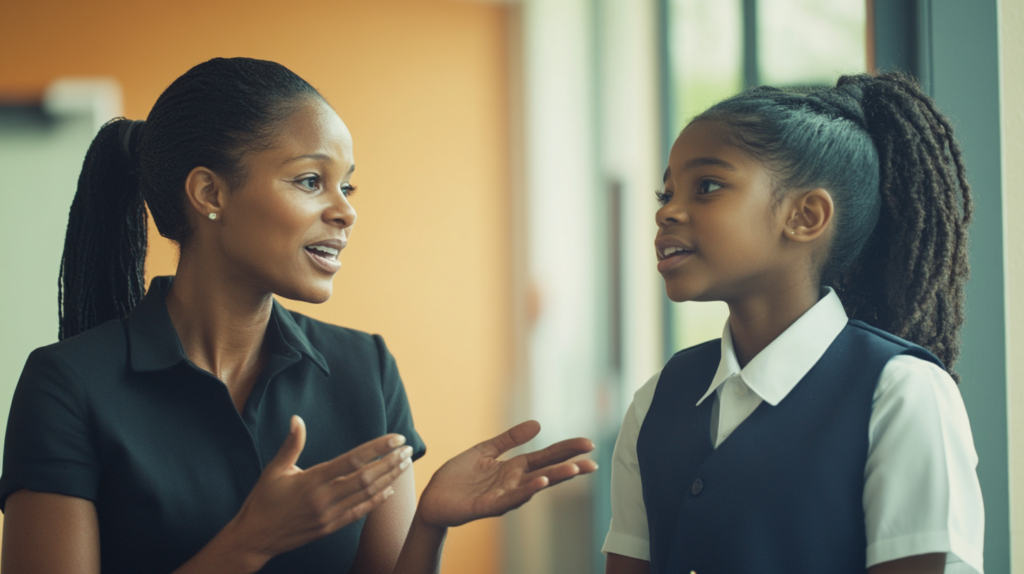
<instances>
[{"instance_id":1,"label":"girl's thick twisted ponytail hanging behind her head","mask_svg":"<svg viewBox=\"0 0 1024 574\"><path fill-rule=\"evenodd\" d=\"M834 93L860 100L882 200L863 252L834 283L851 317L927 348L952 373L973 211L952 127L900 74L844 77Z\"/></svg>"}]
</instances>

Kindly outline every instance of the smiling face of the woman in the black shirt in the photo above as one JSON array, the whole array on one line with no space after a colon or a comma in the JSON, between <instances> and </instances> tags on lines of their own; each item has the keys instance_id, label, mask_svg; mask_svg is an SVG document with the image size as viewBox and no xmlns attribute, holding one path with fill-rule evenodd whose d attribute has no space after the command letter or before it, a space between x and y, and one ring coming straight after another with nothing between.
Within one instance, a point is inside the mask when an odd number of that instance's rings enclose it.
<instances>
[{"instance_id":1,"label":"smiling face of the woman in the black shirt","mask_svg":"<svg viewBox=\"0 0 1024 574\"><path fill-rule=\"evenodd\" d=\"M288 299L331 297L355 210L348 196L352 136L327 103L309 99L275 145L244 159L245 184L224 193L217 241L232 280Z\"/></svg>"}]
</instances>

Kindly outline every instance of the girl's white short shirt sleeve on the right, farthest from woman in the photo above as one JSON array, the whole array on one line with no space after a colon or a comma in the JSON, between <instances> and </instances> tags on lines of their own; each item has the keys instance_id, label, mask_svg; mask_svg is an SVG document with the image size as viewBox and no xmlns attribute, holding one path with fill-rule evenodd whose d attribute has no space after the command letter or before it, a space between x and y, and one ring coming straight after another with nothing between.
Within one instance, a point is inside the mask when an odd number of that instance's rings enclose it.
<instances>
[{"instance_id":1,"label":"girl's white short shirt sleeve on the right, farthest from woman","mask_svg":"<svg viewBox=\"0 0 1024 574\"><path fill-rule=\"evenodd\" d=\"M978 454L949 374L916 357L892 358L874 392L868 444L867 567L946 553L946 574L983 574Z\"/></svg>"}]
</instances>

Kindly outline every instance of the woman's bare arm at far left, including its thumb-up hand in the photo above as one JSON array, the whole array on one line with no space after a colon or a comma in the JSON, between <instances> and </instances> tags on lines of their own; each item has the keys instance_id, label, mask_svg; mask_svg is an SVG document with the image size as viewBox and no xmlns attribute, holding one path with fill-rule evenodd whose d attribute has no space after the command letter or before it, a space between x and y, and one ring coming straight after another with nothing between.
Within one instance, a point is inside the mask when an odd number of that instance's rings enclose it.
<instances>
[{"instance_id":1,"label":"woman's bare arm at far left, including its thumb-up hand","mask_svg":"<svg viewBox=\"0 0 1024 574\"><path fill-rule=\"evenodd\" d=\"M322 538L381 505L410 468L409 447L385 435L301 470L298 416L239 514L175 574L256 572L279 554ZM3 574L99 573L99 523L84 498L18 490L7 497Z\"/></svg>"}]
</instances>

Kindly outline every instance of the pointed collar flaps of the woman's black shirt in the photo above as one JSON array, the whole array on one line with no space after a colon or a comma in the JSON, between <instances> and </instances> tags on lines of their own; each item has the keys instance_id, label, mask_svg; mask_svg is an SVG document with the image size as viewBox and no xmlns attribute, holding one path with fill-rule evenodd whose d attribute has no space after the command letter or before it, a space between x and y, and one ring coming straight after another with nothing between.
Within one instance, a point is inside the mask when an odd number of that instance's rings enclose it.
<instances>
[{"instance_id":1,"label":"pointed collar flaps of the woman's black shirt","mask_svg":"<svg viewBox=\"0 0 1024 574\"><path fill-rule=\"evenodd\" d=\"M129 357L133 370L164 370L188 360L164 302L173 280L170 276L154 277L145 297L128 315ZM292 313L276 301L270 312L267 336L271 338L270 348L274 354L301 353L324 374L330 376L324 355L309 343Z\"/></svg>"}]
</instances>

